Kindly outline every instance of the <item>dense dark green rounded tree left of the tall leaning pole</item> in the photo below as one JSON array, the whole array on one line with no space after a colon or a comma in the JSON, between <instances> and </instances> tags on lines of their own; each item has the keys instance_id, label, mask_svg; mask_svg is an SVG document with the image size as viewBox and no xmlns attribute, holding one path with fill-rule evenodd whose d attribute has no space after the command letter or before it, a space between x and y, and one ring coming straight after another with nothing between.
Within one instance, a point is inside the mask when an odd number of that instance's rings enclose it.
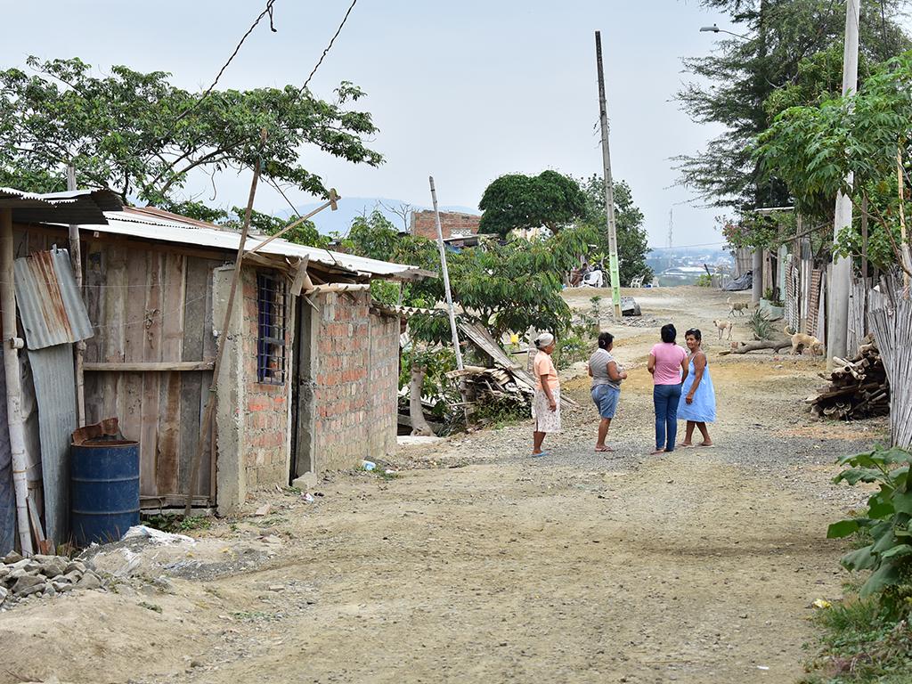
<instances>
[{"instance_id":1,"label":"dense dark green rounded tree left of the tall leaning pole","mask_svg":"<svg viewBox=\"0 0 912 684\"><path fill-rule=\"evenodd\" d=\"M482 195L482 233L506 237L513 230L547 228L557 233L586 212L586 197L572 178L557 171L537 176L511 173L492 181Z\"/></svg>"}]
</instances>

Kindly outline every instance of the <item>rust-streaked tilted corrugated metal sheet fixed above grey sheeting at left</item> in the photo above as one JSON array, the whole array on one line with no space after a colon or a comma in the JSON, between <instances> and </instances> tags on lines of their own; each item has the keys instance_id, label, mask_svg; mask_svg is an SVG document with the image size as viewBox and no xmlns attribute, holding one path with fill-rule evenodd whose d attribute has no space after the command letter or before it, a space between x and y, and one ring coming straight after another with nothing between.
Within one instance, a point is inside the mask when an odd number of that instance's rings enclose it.
<instances>
[{"instance_id":1,"label":"rust-streaked tilted corrugated metal sheet fixed above grey sheeting at left","mask_svg":"<svg viewBox=\"0 0 912 684\"><path fill-rule=\"evenodd\" d=\"M29 349L92 337L67 250L36 252L16 259L16 304Z\"/></svg>"}]
</instances>

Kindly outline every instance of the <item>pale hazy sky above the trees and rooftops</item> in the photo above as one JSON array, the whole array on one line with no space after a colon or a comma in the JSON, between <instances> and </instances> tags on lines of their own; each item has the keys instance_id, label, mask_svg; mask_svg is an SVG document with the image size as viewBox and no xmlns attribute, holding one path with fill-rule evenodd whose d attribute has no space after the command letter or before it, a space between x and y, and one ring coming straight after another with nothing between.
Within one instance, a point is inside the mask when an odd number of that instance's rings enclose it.
<instances>
[{"instance_id":1,"label":"pale hazy sky above the trees and rooftops","mask_svg":"<svg viewBox=\"0 0 912 684\"><path fill-rule=\"evenodd\" d=\"M263 21L225 71L220 87L302 84L336 31L350 0L275 0L275 28ZM26 57L80 57L106 73L111 65L171 72L181 88L212 82L264 0L2 0L0 64ZM700 26L731 26L698 0L358 0L311 82L331 98L342 80L363 88L372 140L386 162L354 165L306 150L305 164L343 197L384 197L430 204L433 175L440 203L475 208L503 173L554 169L599 173L594 32L602 33L611 158L645 213L651 246L721 244L714 217L675 185L670 160L700 150L718 134L679 111L676 91L689 76L681 57L708 54L714 36ZM23 30L9 30L20 26ZM193 192L206 192L208 178ZM249 174L222 175L214 203L244 205ZM290 192L295 205L313 202ZM261 185L255 208L286 213Z\"/></svg>"}]
</instances>

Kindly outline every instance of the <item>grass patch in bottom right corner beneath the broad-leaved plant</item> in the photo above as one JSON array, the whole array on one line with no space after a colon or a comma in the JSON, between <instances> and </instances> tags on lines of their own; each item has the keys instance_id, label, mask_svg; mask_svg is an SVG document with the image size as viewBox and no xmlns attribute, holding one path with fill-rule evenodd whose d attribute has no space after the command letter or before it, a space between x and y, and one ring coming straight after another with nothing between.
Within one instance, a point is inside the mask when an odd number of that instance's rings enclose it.
<instances>
[{"instance_id":1,"label":"grass patch in bottom right corner beneath the broad-leaved plant","mask_svg":"<svg viewBox=\"0 0 912 684\"><path fill-rule=\"evenodd\" d=\"M814 618L819 651L803 684L906 684L912 681L912 628L876 598L850 593Z\"/></svg>"}]
</instances>

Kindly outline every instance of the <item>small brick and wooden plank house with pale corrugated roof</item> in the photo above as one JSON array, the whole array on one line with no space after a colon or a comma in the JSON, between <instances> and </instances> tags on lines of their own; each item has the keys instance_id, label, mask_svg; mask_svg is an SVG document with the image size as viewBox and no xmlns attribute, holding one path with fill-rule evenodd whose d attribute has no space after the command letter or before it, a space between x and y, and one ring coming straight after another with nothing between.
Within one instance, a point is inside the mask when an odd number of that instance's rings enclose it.
<instances>
[{"instance_id":1,"label":"small brick and wooden plank house with pale corrugated roof","mask_svg":"<svg viewBox=\"0 0 912 684\"><path fill-rule=\"evenodd\" d=\"M433 274L275 240L244 260L240 235L156 209L80 225L85 422L117 417L140 441L143 508L181 505L225 345L193 505L231 511L256 487L357 465L396 443L399 318L372 306L374 278ZM67 227L14 224L16 255L67 244ZM247 249L264 236L252 235Z\"/></svg>"}]
</instances>

